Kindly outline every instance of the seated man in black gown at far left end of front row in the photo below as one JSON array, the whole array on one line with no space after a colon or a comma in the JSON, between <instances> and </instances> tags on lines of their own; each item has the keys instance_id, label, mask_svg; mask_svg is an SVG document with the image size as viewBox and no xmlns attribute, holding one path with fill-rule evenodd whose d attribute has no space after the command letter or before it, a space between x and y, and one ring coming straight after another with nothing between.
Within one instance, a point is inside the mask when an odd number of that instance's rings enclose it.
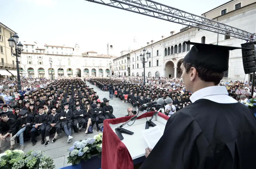
<instances>
[{"instance_id":1,"label":"seated man in black gown at far left end of front row","mask_svg":"<svg viewBox=\"0 0 256 169\"><path fill-rule=\"evenodd\" d=\"M5 138L10 135L10 138L15 135L16 133L16 120L9 118L8 114L6 112L2 112L0 114L0 117L2 120L0 121L0 147L2 141L5 141ZM11 141L11 148L10 150L13 149L13 145L15 144L15 141ZM2 150L0 149L0 153Z\"/></svg>"}]
</instances>

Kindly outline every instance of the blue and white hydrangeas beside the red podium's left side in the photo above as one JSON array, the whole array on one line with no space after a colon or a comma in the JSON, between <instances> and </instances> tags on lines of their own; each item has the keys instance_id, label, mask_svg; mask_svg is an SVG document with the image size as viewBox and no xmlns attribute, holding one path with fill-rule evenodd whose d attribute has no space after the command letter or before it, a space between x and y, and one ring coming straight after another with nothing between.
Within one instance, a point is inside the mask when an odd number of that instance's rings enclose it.
<instances>
[{"instance_id":1,"label":"blue and white hydrangeas beside the red podium's left side","mask_svg":"<svg viewBox=\"0 0 256 169\"><path fill-rule=\"evenodd\" d=\"M72 147L69 148L68 163L72 165L79 164L81 160L86 161L98 155L101 157L102 149L102 133L95 135L93 138L76 141Z\"/></svg>"}]
</instances>

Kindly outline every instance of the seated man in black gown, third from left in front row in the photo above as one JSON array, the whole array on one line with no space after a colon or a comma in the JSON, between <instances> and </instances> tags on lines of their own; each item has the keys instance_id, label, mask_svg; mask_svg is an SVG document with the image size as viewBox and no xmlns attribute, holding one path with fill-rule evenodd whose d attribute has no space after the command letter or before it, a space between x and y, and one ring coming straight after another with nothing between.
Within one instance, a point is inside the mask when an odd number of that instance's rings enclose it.
<instances>
[{"instance_id":1,"label":"seated man in black gown, third from left in front row","mask_svg":"<svg viewBox=\"0 0 256 169\"><path fill-rule=\"evenodd\" d=\"M44 134L47 124L47 114L44 113L44 107L38 107L38 114L34 118L33 128L30 130L30 136L32 145L35 145L37 140L35 140L36 135L42 136L41 144L44 144Z\"/></svg>"}]
</instances>

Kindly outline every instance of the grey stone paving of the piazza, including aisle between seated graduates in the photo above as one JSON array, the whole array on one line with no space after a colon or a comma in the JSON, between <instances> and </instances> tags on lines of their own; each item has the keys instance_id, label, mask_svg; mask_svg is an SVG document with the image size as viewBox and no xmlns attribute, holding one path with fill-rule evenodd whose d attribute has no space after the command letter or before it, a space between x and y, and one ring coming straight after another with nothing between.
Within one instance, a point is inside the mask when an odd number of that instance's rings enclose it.
<instances>
[{"instance_id":1,"label":"grey stone paving of the piazza, including aisle between seated graduates","mask_svg":"<svg viewBox=\"0 0 256 169\"><path fill-rule=\"evenodd\" d=\"M86 82L86 83L91 88L94 88L94 91L97 92L101 101L104 97L109 99L109 95L108 95L107 91L103 92L96 86L92 87L92 84L90 84L89 82ZM120 99L113 97L113 99L110 99L109 105L111 105L114 108L113 114L116 116L116 118L118 118L118 117L123 117L127 114L127 107L130 106L130 103L126 103L126 102L123 103ZM133 109L136 110L136 108L133 108ZM59 169L61 167L70 165L67 163L68 162L68 159L67 159L68 151L67 150L69 149L69 147L71 147L71 145L75 141L87 139L89 137L93 137L96 134L99 134L99 132L97 132L95 129L94 129L93 134L85 134L84 132L74 133L72 135L73 139L71 140L71 142L67 143L67 136L62 131L61 136L58 136L55 143L52 143L53 135L50 136L50 143L47 147L45 147L44 145L41 145L41 136L37 136L36 137L37 143L34 146L32 146L31 142L24 142L24 146L25 146L24 151L26 152L31 149L37 149L37 150L44 151L45 155L48 155L54 159L56 169ZM3 147L1 148L1 150L3 152L10 148L10 138L9 137L7 138L7 141L8 141L7 143L4 143L4 141L2 142ZM14 146L14 149L19 149L19 148L20 148L19 144Z\"/></svg>"}]
</instances>

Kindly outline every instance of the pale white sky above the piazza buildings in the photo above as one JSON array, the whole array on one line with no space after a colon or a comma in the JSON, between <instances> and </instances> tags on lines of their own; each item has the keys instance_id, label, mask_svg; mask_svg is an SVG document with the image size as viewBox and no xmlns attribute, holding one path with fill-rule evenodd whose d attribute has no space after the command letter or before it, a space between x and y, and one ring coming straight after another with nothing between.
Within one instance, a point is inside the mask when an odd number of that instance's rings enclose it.
<instances>
[{"instance_id":1,"label":"pale white sky above the piazza buildings","mask_svg":"<svg viewBox=\"0 0 256 169\"><path fill-rule=\"evenodd\" d=\"M157 0L196 15L228 1ZM85 0L0 0L0 4L0 22L18 33L21 43L36 41L39 48L44 44L74 47L78 43L81 52L107 54L107 43L111 42L120 56L121 51L134 49L134 37L138 49L185 27Z\"/></svg>"}]
</instances>

